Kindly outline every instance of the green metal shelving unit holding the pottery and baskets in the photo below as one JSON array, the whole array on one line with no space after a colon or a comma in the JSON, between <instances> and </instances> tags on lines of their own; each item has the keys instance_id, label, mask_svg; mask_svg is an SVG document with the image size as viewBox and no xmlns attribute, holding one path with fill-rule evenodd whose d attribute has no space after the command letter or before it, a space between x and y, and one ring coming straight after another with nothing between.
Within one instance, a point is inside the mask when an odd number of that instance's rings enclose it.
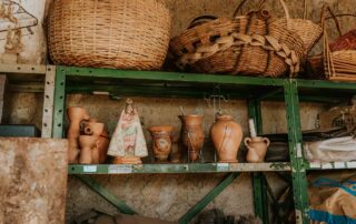
<instances>
[{"instance_id":1,"label":"green metal shelving unit holding the pottery and baskets","mask_svg":"<svg viewBox=\"0 0 356 224\"><path fill-rule=\"evenodd\" d=\"M249 116L255 119L258 134L263 134L260 102L285 102L290 155L290 162L288 163L69 165L69 174L77 175L83 183L128 214L134 214L135 211L105 190L90 175L85 174L227 173L221 183L179 220L179 223L188 223L215 196L236 180L240 172L251 172L255 213L263 218L264 223L268 223L266 205L268 186L265 182L264 172L287 172L291 175L297 223L309 223L306 172L309 170L356 167L356 162L308 163L305 161L303 157L303 136L299 116L300 101L342 102L356 93L356 83L178 72L121 71L76 67L57 67L55 69L52 65L31 67L17 64L0 64L0 73L9 74L11 90L28 92L44 91L46 106L43 109L42 131L44 130L47 135L51 133L53 138L63 138L65 101L68 93L105 92L112 96L202 98L206 93L211 92L214 86L219 85L222 94L228 93L231 99L245 99L247 101ZM23 74L31 75L23 77ZM43 83L46 84L43 85ZM50 123L52 125L48 125Z\"/></svg>"}]
</instances>

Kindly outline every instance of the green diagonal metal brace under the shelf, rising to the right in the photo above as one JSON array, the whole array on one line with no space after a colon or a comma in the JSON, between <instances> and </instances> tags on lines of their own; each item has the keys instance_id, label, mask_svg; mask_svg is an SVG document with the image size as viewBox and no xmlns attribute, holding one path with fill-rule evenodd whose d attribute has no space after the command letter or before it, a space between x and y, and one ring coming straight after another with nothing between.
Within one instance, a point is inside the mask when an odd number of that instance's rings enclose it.
<instances>
[{"instance_id":1,"label":"green diagonal metal brace under the shelf, rising to the right","mask_svg":"<svg viewBox=\"0 0 356 224\"><path fill-rule=\"evenodd\" d=\"M200 213L212 200L219 195L228 185L230 185L239 173L228 174L216 187L214 187L207 195L205 195L195 206L192 206L184 216L178 221L179 224L187 224L198 213Z\"/></svg>"}]
</instances>

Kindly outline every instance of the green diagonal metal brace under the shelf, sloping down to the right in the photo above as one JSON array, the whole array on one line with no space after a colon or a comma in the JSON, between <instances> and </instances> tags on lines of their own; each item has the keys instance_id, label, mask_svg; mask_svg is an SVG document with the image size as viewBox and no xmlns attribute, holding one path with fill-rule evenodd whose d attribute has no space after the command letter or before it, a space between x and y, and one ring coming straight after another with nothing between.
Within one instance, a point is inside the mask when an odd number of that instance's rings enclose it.
<instances>
[{"instance_id":1,"label":"green diagonal metal brace under the shelf, sloping down to the right","mask_svg":"<svg viewBox=\"0 0 356 224\"><path fill-rule=\"evenodd\" d=\"M90 176L77 175L77 177L85 184L87 184L90 189L92 189L95 192L97 192L99 195L101 195L103 198L106 198L113 206L116 206L121 213L130 215L137 214L135 210L132 210L123 201L119 200L117 196L111 194L108 190L106 190L101 184L99 184Z\"/></svg>"}]
</instances>

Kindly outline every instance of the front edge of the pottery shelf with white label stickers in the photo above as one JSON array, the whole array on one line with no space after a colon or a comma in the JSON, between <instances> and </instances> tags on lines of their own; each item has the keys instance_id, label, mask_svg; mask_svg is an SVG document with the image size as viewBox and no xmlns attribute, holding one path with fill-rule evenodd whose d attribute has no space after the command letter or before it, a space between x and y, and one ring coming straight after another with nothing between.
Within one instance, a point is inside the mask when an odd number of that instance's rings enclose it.
<instances>
[{"instance_id":1,"label":"front edge of the pottery shelf with white label stickers","mask_svg":"<svg viewBox=\"0 0 356 224\"><path fill-rule=\"evenodd\" d=\"M289 163L182 163L182 164L88 164L69 165L69 174L136 174L136 173L227 173L290 171Z\"/></svg>"}]
</instances>

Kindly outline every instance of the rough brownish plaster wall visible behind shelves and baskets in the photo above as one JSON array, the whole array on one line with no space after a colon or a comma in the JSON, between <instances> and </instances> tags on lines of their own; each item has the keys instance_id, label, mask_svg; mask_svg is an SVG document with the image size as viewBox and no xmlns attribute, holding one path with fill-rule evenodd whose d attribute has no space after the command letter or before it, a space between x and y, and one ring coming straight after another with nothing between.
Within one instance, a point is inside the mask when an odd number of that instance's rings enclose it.
<instances>
[{"instance_id":1,"label":"rough brownish plaster wall visible behind shelves and baskets","mask_svg":"<svg viewBox=\"0 0 356 224\"><path fill-rule=\"evenodd\" d=\"M212 14L217 17L230 17L239 0L160 0L171 10L172 29L175 37L185 30L189 22L201 14ZM319 20L322 0L306 0L308 2L307 17L314 21ZM336 13L354 13L355 0L325 0L328 1ZM247 1L244 12L253 9L257 0ZM301 17L303 1L288 0L287 4L291 18ZM267 8L277 17L281 17L283 10L277 0L267 0ZM347 31L355 24L355 18L342 18L343 31ZM336 37L333 24L329 23L332 38ZM319 52L322 45L313 51ZM41 126L42 94L13 93L10 102L6 106L6 123L34 123ZM136 99L140 116L142 118L145 135L150 142L146 128L156 124L172 124L179 129L179 105L184 105L187 112L198 112L205 114L205 130L208 133L212 122L212 109L204 100L172 100L172 99ZM115 128L118 115L122 110L122 101L111 101L107 96L70 95L68 105L85 106L91 116L98 118L108 124L110 131ZM247 133L247 110L245 102L233 101L222 108L231 113L243 125ZM317 112L325 109L325 105L309 103L301 104L303 129L313 129ZM263 104L264 132L278 133L286 131L286 113L283 103ZM206 149L205 151L209 151ZM206 160L211 160L210 153L205 155ZM148 159L149 161L150 159ZM112 191L117 196L125 200L139 213L160 217L164 220L179 218L190 206L198 202L202 195L211 190L222 175L189 174L189 175L120 175L120 176L96 176L96 179ZM275 180L275 179L274 179ZM277 182L273 181L275 185ZM69 177L67 221L88 211L91 207L100 207L115 212L112 205L108 204L100 196L91 192L77 179ZM219 207L228 214L251 214L253 192L249 174L243 174L222 194L220 194L208 207Z\"/></svg>"}]
</instances>

